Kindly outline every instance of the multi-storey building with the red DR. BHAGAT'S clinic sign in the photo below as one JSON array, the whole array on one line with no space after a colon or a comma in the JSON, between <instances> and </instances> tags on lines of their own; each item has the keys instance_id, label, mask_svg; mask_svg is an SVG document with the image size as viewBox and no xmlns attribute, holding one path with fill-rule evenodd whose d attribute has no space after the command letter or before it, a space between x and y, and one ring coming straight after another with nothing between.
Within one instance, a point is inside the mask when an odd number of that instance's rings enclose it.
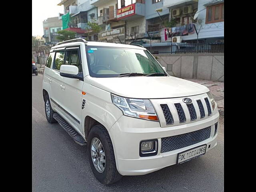
<instances>
[{"instance_id":1,"label":"multi-storey building with the red DR. BHAGAT'S clinic sign","mask_svg":"<svg viewBox=\"0 0 256 192\"><path fill-rule=\"evenodd\" d=\"M98 23L103 27L101 41L143 44L160 42L163 20L169 9L162 0L90 0L98 7ZM156 10L162 8L160 14Z\"/></svg>"}]
</instances>

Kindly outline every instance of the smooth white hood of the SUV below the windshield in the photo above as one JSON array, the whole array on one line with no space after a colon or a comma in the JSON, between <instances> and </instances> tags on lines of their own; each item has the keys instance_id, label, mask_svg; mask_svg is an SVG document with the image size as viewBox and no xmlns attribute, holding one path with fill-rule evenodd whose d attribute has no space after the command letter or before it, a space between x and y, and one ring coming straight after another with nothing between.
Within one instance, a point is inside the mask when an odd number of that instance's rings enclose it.
<instances>
[{"instance_id":1,"label":"smooth white hood of the SUV below the windshield","mask_svg":"<svg viewBox=\"0 0 256 192\"><path fill-rule=\"evenodd\" d=\"M94 78L90 84L113 94L142 99L174 98L203 94L206 86L173 76L131 76L114 78Z\"/></svg>"}]
</instances>

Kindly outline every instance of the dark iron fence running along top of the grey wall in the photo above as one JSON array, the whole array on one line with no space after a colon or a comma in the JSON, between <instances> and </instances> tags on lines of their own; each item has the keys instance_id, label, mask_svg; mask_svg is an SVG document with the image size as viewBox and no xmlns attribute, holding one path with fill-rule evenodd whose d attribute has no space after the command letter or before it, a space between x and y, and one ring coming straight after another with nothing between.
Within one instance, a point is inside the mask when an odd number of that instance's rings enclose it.
<instances>
[{"instance_id":1,"label":"dark iron fence running along top of the grey wall","mask_svg":"<svg viewBox=\"0 0 256 192\"><path fill-rule=\"evenodd\" d=\"M146 47L150 51L150 46ZM152 46L152 54L224 53L224 42L171 43L169 46Z\"/></svg>"}]
</instances>

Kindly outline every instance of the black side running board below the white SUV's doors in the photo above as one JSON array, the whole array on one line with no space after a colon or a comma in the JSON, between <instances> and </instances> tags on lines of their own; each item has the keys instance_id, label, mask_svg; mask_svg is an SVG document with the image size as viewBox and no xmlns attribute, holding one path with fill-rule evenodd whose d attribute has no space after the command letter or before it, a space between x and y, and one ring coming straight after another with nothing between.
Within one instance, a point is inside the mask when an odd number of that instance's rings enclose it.
<instances>
[{"instance_id":1,"label":"black side running board below the white SUV's doors","mask_svg":"<svg viewBox=\"0 0 256 192\"><path fill-rule=\"evenodd\" d=\"M68 124L58 113L53 114L53 118L68 132L77 144L86 145L84 138Z\"/></svg>"}]
</instances>

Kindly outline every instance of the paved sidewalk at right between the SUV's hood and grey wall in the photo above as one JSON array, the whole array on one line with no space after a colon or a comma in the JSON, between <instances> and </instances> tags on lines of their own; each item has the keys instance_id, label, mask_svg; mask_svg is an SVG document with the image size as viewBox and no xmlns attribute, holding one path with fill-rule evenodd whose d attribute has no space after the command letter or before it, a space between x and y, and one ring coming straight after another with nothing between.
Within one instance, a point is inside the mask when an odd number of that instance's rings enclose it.
<instances>
[{"instance_id":1,"label":"paved sidewalk at right between the SUV's hood and grey wall","mask_svg":"<svg viewBox=\"0 0 256 192\"><path fill-rule=\"evenodd\" d=\"M199 83L208 87L217 102L218 110L220 115L224 116L224 82L214 82L208 80L198 80L198 79L186 79L192 82Z\"/></svg>"}]
</instances>

